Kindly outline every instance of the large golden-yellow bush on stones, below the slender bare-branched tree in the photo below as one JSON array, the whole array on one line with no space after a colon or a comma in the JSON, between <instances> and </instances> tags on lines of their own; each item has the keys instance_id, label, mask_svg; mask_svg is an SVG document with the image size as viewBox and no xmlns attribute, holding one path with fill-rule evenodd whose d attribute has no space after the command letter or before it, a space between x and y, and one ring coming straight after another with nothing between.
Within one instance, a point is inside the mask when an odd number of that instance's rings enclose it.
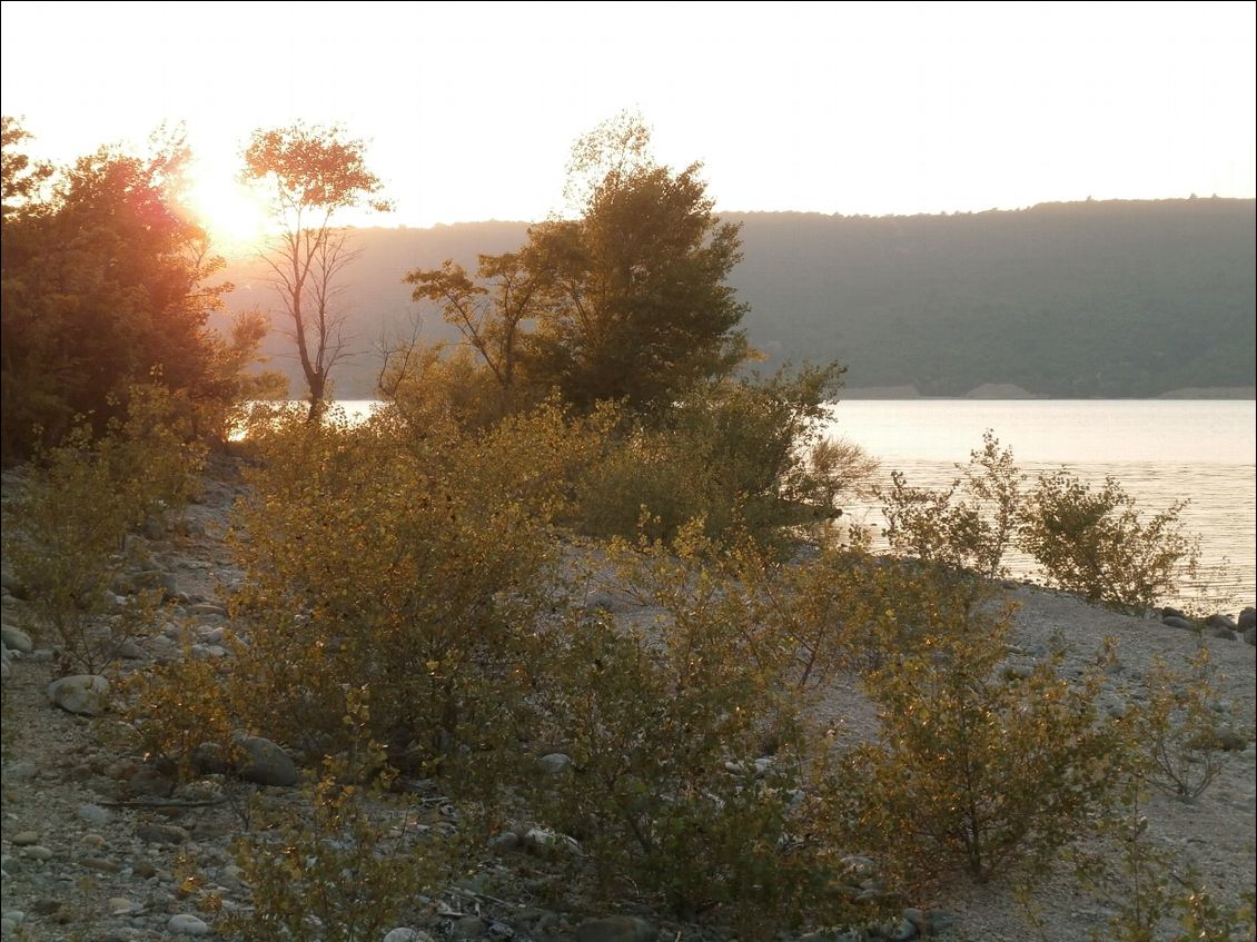
<instances>
[{"instance_id":1,"label":"large golden-yellow bush on stones, below the slender bare-branched tree","mask_svg":"<svg viewBox=\"0 0 1257 942\"><path fill-rule=\"evenodd\" d=\"M569 452L557 412L421 437L395 414L259 435L234 541L250 632L233 673L250 728L310 756L344 747L341 688L370 685L371 735L439 767L509 735L552 566Z\"/></svg>"}]
</instances>

